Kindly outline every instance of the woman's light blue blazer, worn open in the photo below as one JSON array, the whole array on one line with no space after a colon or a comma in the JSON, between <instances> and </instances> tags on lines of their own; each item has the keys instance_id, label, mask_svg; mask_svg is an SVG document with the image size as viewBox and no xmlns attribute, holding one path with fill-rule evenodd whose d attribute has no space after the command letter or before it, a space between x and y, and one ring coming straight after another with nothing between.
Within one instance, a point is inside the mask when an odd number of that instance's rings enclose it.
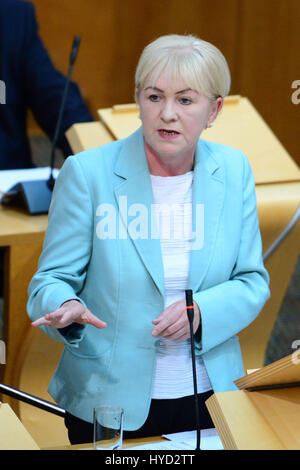
<instances>
[{"instance_id":1,"label":"woman's light blue blazer, worn open","mask_svg":"<svg viewBox=\"0 0 300 470\"><path fill-rule=\"evenodd\" d=\"M215 392L234 390L233 381L244 375L237 333L269 296L247 158L200 139L193 191L193 230L199 236L188 287L202 316L196 353ZM105 329L43 327L64 342L49 393L86 421L92 421L95 406L120 405L127 430L139 428L148 415L157 343L152 320L164 309L160 241L155 230L145 235L145 214L150 224L153 203L142 128L69 157L55 184L43 253L29 286L32 320L77 298L107 323ZM203 223L197 226L199 207Z\"/></svg>"}]
</instances>

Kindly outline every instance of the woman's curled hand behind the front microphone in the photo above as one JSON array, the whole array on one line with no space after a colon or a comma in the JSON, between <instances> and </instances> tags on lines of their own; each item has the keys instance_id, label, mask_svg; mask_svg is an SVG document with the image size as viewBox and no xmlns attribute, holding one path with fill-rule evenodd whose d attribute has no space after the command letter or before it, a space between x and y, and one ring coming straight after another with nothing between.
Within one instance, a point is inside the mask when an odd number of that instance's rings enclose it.
<instances>
[{"instance_id":1,"label":"woman's curled hand behind the front microphone","mask_svg":"<svg viewBox=\"0 0 300 470\"><path fill-rule=\"evenodd\" d=\"M185 300L178 300L169 305L155 320L152 321L155 328L152 336L162 336L163 338L175 341L183 341L190 338L190 324L186 312ZM197 331L200 324L200 309L194 302L193 331Z\"/></svg>"}]
</instances>

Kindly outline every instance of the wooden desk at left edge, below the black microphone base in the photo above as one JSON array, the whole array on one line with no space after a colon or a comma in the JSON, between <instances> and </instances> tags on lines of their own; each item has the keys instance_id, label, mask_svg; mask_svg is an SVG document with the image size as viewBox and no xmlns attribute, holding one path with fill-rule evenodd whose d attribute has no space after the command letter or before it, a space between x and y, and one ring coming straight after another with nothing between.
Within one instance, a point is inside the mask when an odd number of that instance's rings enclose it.
<instances>
[{"instance_id":1,"label":"wooden desk at left edge, below the black microphone base","mask_svg":"<svg viewBox=\"0 0 300 470\"><path fill-rule=\"evenodd\" d=\"M26 354L30 321L26 314L27 288L36 271L48 217L29 217L25 212L0 205L0 247L4 248L4 328L6 364L0 366L0 380L19 387L19 375ZM3 397L18 414L18 403Z\"/></svg>"}]
</instances>

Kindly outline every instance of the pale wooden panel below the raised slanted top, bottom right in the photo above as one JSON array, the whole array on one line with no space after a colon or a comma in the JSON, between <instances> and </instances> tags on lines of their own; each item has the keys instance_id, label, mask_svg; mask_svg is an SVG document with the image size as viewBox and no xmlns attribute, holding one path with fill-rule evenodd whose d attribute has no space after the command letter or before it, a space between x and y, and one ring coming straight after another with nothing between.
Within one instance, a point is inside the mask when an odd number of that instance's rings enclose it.
<instances>
[{"instance_id":1,"label":"pale wooden panel below the raised slanted top, bottom right","mask_svg":"<svg viewBox=\"0 0 300 470\"><path fill-rule=\"evenodd\" d=\"M298 450L299 387L215 393L205 403L227 450Z\"/></svg>"}]
</instances>

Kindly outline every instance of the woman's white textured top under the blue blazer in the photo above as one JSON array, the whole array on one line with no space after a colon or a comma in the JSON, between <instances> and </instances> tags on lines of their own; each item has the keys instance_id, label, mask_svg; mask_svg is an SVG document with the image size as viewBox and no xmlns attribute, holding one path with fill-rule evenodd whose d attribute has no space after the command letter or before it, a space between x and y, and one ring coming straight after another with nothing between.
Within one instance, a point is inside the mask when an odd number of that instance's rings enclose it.
<instances>
[{"instance_id":1,"label":"woman's white textured top under the blue blazer","mask_svg":"<svg viewBox=\"0 0 300 470\"><path fill-rule=\"evenodd\" d=\"M185 299L192 237L193 172L179 176L151 175L156 220L160 235L165 308ZM196 358L197 389L212 389L201 358ZM190 340L160 338L152 398L180 398L194 394Z\"/></svg>"}]
</instances>

